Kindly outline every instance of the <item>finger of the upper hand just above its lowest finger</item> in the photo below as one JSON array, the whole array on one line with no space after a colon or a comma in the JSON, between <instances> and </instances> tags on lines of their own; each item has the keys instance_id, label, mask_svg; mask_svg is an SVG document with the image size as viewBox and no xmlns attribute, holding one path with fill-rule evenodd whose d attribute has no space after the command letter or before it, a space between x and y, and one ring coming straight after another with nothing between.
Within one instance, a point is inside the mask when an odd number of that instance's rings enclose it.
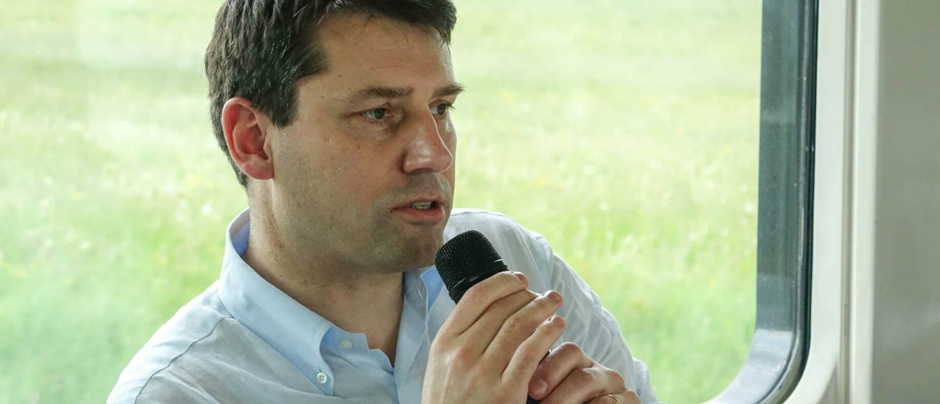
<instances>
[{"instance_id":1,"label":"finger of the upper hand just above its lowest finger","mask_svg":"<svg viewBox=\"0 0 940 404\"><path fill-rule=\"evenodd\" d=\"M549 290L542 295L538 295L532 302L515 313L512 313L500 326L499 332L493 337L493 342L484 352L484 355L491 357L509 358L512 353L520 348L523 341L531 336L536 328L546 319L551 317L561 307L561 294L555 290ZM547 347L552 348L551 345ZM545 356L543 350L539 354L539 359ZM528 382L528 379L524 381Z\"/></svg>"}]
</instances>

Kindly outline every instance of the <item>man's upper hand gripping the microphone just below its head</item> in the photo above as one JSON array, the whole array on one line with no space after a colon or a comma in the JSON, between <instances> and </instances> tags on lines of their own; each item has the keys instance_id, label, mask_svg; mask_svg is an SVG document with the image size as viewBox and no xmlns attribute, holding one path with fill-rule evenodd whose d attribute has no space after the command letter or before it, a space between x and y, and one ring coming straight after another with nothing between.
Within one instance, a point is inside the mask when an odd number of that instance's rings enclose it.
<instances>
[{"instance_id":1,"label":"man's upper hand gripping the microphone just below its head","mask_svg":"<svg viewBox=\"0 0 940 404\"><path fill-rule=\"evenodd\" d=\"M561 295L525 287L521 272L500 272L466 291L431 343L422 403L525 403L528 381L565 327L552 316Z\"/></svg>"}]
</instances>

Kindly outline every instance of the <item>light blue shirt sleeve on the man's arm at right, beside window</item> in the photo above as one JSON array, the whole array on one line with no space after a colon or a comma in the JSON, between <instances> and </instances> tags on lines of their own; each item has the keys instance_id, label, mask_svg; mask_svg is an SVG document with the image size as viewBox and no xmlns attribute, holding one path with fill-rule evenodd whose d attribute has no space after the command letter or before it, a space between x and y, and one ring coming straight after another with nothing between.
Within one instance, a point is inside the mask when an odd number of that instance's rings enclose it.
<instances>
[{"instance_id":1,"label":"light blue shirt sleeve on the man's arm at right, beside window","mask_svg":"<svg viewBox=\"0 0 940 404\"><path fill-rule=\"evenodd\" d=\"M643 404L658 402L650 384L646 364L630 353L617 319L601 304L601 299L587 283L557 256L543 237L529 231L535 239L534 257L541 261L540 279L545 287L555 289L564 297L558 314L568 326L559 339L573 342L597 363L617 370Z\"/></svg>"}]
</instances>

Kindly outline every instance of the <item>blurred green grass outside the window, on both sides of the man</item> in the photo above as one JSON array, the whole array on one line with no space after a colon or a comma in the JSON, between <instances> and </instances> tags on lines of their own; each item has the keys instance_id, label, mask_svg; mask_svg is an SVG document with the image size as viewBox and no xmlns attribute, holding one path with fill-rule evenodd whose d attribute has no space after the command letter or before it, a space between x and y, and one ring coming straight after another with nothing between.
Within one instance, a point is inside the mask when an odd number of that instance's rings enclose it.
<instances>
[{"instance_id":1,"label":"blurred green grass outside the window, on both sides of the man","mask_svg":"<svg viewBox=\"0 0 940 404\"><path fill-rule=\"evenodd\" d=\"M0 0L0 402L102 402L217 278L217 6ZM457 204L551 241L662 400L716 395L754 329L760 2L457 6Z\"/></svg>"}]
</instances>

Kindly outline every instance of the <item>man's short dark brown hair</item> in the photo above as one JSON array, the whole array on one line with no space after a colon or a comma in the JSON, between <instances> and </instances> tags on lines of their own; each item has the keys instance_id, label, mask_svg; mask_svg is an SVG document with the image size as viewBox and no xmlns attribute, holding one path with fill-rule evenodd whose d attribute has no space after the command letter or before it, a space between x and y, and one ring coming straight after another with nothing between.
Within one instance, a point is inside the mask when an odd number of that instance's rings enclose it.
<instances>
[{"instance_id":1,"label":"man's short dark brown hair","mask_svg":"<svg viewBox=\"0 0 940 404\"><path fill-rule=\"evenodd\" d=\"M339 11L431 28L446 44L457 22L451 0L226 0L206 49L206 76L212 130L243 189L248 178L228 153L222 107L243 97L275 126L290 125L297 81L328 66L314 39L316 27L327 14Z\"/></svg>"}]
</instances>

